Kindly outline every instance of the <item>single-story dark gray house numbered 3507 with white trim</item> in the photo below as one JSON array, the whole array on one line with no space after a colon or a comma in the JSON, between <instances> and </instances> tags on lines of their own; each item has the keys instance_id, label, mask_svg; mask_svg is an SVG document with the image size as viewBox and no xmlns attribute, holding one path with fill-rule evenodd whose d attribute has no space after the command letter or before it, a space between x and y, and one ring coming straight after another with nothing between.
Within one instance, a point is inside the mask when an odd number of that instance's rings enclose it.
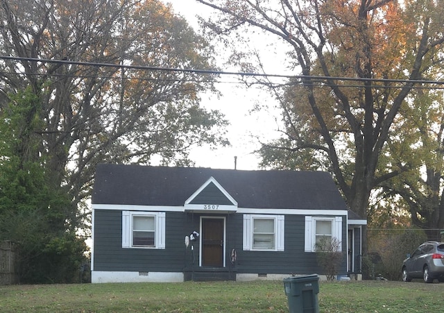
<instances>
[{"instance_id":1,"label":"single-story dark gray house numbered 3507 with white trim","mask_svg":"<svg viewBox=\"0 0 444 313\"><path fill-rule=\"evenodd\" d=\"M361 271L361 229L330 174L100 164L92 282L280 279L323 274L314 245L341 242Z\"/></svg>"}]
</instances>

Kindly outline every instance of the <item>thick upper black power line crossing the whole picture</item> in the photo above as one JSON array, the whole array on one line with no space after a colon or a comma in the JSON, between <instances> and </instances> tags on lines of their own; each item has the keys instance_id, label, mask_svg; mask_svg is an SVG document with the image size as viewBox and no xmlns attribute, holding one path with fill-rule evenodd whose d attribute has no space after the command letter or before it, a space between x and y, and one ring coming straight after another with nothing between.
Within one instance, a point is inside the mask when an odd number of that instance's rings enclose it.
<instances>
[{"instance_id":1,"label":"thick upper black power line crossing the whole picture","mask_svg":"<svg viewBox=\"0 0 444 313\"><path fill-rule=\"evenodd\" d=\"M265 74L265 73L253 73L253 72L240 72L240 71L220 71L215 69L180 69L174 67L155 67L146 65L122 65L122 64L112 64L112 63L101 63L101 62L81 62L72 60L51 60L42 58L22 58L15 56L0 56L2 60L16 60L16 61L28 61L28 62L42 62L42 63L52 63L59 65L83 65L89 67L114 67L120 69L139 69L145 71L174 71L182 73L194 73L194 74L212 74L212 75L231 75L231 76L247 76L247 77L266 77L266 78L290 78L298 79L299 83L302 81L309 81L311 83L319 83L324 81L359 81L359 82L372 82L372 83L398 83L398 84L421 84L421 85L443 85L444 81L434 81L434 80L410 80L410 79L388 79L388 78L359 78L359 77L341 77L341 76L307 76L307 75L290 75L290 74ZM338 85L326 83L326 85ZM340 85L344 87L344 85ZM362 87L362 86L345 86L345 87ZM379 86L375 87L393 87L393 86ZM431 88L431 87L427 87ZM443 89L444 87L437 87L437 89Z\"/></svg>"}]
</instances>

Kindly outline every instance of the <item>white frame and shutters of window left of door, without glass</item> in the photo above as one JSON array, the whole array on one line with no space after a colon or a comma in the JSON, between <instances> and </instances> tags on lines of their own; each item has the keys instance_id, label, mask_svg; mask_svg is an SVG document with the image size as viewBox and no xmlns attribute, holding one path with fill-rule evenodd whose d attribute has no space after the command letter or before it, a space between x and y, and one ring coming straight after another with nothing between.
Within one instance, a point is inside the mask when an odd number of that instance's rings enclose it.
<instances>
[{"instance_id":1,"label":"white frame and shutters of window left of door, without glass","mask_svg":"<svg viewBox=\"0 0 444 313\"><path fill-rule=\"evenodd\" d=\"M133 246L133 217L154 217L154 246ZM122 248L164 249L165 212L122 211Z\"/></svg>"}]
</instances>

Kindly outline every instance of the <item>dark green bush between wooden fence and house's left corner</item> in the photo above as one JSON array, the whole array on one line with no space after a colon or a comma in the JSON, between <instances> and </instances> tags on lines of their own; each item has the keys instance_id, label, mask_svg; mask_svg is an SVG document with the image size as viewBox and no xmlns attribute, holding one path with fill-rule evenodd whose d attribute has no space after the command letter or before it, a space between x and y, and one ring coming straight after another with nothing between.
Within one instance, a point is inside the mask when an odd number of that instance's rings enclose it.
<instances>
[{"instance_id":1,"label":"dark green bush between wooden fence and house's left corner","mask_svg":"<svg viewBox=\"0 0 444 313\"><path fill-rule=\"evenodd\" d=\"M85 241L63 231L44 210L9 210L0 217L0 239L16 243L22 283L77 282Z\"/></svg>"}]
</instances>

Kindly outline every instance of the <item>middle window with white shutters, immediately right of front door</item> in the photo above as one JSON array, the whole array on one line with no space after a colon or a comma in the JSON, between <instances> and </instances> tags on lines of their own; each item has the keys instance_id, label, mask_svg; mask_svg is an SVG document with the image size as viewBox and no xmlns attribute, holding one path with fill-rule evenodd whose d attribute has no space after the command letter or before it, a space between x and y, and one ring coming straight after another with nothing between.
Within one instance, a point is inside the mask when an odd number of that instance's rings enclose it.
<instances>
[{"instance_id":1,"label":"middle window with white shutters, immediately right of front door","mask_svg":"<svg viewBox=\"0 0 444 313\"><path fill-rule=\"evenodd\" d=\"M284 251L284 215L244 214L245 251Z\"/></svg>"}]
</instances>

